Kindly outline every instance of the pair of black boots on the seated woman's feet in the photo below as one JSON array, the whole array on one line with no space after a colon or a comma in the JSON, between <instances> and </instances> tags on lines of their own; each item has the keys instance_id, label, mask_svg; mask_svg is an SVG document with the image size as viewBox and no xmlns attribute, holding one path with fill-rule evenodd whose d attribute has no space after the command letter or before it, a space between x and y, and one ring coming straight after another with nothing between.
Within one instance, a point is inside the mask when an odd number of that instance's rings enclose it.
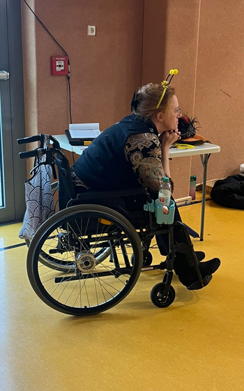
<instances>
[{"instance_id":1,"label":"pair of black boots on the seated woman's feet","mask_svg":"<svg viewBox=\"0 0 244 391\"><path fill-rule=\"evenodd\" d=\"M212 279L212 274L220 267L220 260L213 258L207 262L199 263L199 271L204 280L204 286ZM178 275L178 279L189 290L197 290L203 288L198 279L197 272L194 266L188 263L188 257L185 254L177 253L174 260L174 271Z\"/></svg>"}]
</instances>

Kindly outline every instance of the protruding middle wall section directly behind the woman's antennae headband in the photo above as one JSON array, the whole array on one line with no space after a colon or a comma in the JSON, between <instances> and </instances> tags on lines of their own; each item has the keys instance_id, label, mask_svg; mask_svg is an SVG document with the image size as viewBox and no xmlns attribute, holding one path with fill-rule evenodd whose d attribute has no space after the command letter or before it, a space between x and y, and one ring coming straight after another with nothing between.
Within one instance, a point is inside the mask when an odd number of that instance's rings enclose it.
<instances>
[{"instance_id":1,"label":"protruding middle wall section directly behind the woman's antennae headband","mask_svg":"<svg viewBox=\"0 0 244 391\"><path fill-rule=\"evenodd\" d=\"M195 97L198 15L199 0L145 0L142 82L160 82L169 69L178 68L172 85L180 107L189 114ZM191 158L170 163L175 198L188 195L190 163Z\"/></svg>"}]
</instances>

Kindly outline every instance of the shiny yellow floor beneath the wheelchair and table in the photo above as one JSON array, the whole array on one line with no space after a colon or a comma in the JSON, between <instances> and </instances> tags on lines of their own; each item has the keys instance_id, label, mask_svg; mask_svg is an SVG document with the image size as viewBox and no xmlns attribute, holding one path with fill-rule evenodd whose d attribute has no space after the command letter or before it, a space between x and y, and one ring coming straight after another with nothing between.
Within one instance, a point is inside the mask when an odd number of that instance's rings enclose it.
<instances>
[{"instance_id":1,"label":"shiny yellow floor beneath the wheelchair and table","mask_svg":"<svg viewBox=\"0 0 244 391\"><path fill-rule=\"evenodd\" d=\"M181 207L199 231L201 204ZM47 307L26 275L26 247L0 251L1 391L244 390L244 211L206 202L195 249L222 265L206 288L155 307L162 272L144 272L121 304L75 318ZM0 248L20 243L20 224L0 227ZM153 249L155 263L160 261Z\"/></svg>"}]
</instances>

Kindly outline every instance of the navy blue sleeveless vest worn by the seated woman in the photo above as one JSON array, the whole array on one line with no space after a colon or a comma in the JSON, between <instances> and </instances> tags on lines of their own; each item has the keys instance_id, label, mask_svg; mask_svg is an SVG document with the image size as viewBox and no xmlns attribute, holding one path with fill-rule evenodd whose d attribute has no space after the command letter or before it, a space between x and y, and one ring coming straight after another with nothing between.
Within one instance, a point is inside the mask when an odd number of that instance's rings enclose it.
<instances>
[{"instance_id":1,"label":"navy blue sleeveless vest worn by the seated woman","mask_svg":"<svg viewBox=\"0 0 244 391\"><path fill-rule=\"evenodd\" d=\"M125 142L132 133L155 133L152 121L129 115L102 132L74 164L75 174L92 190L131 189L139 186L126 160Z\"/></svg>"}]
</instances>

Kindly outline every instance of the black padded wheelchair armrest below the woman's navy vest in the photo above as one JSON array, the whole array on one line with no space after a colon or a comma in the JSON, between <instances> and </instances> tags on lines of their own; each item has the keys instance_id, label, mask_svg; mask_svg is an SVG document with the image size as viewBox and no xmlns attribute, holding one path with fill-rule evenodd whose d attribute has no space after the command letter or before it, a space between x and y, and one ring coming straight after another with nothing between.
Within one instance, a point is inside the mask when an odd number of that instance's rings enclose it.
<instances>
[{"instance_id":1,"label":"black padded wheelchair armrest below the woman's navy vest","mask_svg":"<svg viewBox=\"0 0 244 391\"><path fill-rule=\"evenodd\" d=\"M86 201L86 200L94 200L96 198L118 198L118 197L126 197L127 195L140 195L144 194L147 197L151 198L147 192L147 189L144 187L139 187L136 189L128 189L128 190L115 190L115 191L86 191L84 193L77 194L77 200Z\"/></svg>"}]
</instances>

